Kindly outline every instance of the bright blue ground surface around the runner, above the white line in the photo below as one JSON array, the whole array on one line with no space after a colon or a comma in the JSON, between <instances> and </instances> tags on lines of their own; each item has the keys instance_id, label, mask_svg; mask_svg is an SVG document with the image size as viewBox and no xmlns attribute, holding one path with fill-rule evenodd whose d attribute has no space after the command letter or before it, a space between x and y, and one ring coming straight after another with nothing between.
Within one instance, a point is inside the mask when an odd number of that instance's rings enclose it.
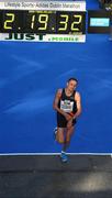
<instances>
[{"instance_id":1,"label":"bright blue ground surface around the runner, above the white line","mask_svg":"<svg viewBox=\"0 0 112 198\"><path fill-rule=\"evenodd\" d=\"M68 152L112 153L112 42L0 43L0 153L54 153L53 100L76 77L82 114Z\"/></svg>"}]
</instances>

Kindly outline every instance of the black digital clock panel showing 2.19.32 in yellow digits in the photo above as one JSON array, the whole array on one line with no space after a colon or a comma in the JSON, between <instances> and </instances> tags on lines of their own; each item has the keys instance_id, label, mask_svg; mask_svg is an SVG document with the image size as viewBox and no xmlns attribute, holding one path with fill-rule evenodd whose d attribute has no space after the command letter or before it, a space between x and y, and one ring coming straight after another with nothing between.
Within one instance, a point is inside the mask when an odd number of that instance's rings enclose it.
<instances>
[{"instance_id":1,"label":"black digital clock panel showing 2.19.32 in yellow digits","mask_svg":"<svg viewBox=\"0 0 112 198\"><path fill-rule=\"evenodd\" d=\"M0 10L0 33L86 34L86 11Z\"/></svg>"}]
</instances>

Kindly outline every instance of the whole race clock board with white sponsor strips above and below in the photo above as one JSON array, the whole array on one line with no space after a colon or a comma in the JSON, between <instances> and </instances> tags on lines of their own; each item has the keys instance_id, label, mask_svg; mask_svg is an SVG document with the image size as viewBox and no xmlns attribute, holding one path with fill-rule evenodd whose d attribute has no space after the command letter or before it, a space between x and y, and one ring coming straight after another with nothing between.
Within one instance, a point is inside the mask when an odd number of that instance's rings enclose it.
<instances>
[{"instance_id":1,"label":"whole race clock board with white sponsor strips above and below","mask_svg":"<svg viewBox=\"0 0 112 198\"><path fill-rule=\"evenodd\" d=\"M1 40L19 34L32 34L36 41L85 42L86 1L0 2Z\"/></svg>"}]
</instances>

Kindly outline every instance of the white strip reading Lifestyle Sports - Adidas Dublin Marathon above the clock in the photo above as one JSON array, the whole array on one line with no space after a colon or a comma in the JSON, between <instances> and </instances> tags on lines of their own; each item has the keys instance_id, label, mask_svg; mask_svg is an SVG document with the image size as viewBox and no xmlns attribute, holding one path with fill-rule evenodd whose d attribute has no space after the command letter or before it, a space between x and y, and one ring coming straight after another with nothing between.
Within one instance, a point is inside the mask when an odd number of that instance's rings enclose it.
<instances>
[{"instance_id":1,"label":"white strip reading Lifestyle Sports - Adidas Dublin Marathon above the clock","mask_svg":"<svg viewBox=\"0 0 112 198\"><path fill-rule=\"evenodd\" d=\"M0 10L86 11L86 1L0 2Z\"/></svg>"}]
</instances>

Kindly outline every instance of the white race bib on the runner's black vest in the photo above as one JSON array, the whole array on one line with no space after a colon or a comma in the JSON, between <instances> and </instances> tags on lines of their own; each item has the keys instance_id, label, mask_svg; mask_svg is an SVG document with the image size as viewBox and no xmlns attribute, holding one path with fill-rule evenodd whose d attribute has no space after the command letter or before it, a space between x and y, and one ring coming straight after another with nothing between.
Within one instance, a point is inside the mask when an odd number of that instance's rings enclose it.
<instances>
[{"instance_id":1,"label":"white race bib on the runner's black vest","mask_svg":"<svg viewBox=\"0 0 112 198\"><path fill-rule=\"evenodd\" d=\"M74 110L74 101L60 100L60 109L65 112L71 112Z\"/></svg>"}]
</instances>

